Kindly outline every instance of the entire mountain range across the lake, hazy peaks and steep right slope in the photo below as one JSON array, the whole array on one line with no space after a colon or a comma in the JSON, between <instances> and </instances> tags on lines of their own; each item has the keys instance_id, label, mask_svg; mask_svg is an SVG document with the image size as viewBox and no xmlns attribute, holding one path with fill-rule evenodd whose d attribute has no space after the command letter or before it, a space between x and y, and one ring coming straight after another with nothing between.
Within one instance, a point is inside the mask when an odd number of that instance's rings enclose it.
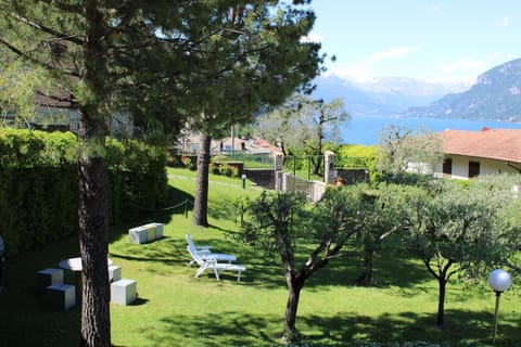
<instances>
[{"instance_id":1,"label":"entire mountain range across the lake, hazy peaks and steep right slope","mask_svg":"<svg viewBox=\"0 0 521 347\"><path fill-rule=\"evenodd\" d=\"M334 75L319 77L316 85L315 97L341 98L354 116L521 121L521 59L483 73L473 85L403 77L356 81Z\"/></svg>"}]
</instances>

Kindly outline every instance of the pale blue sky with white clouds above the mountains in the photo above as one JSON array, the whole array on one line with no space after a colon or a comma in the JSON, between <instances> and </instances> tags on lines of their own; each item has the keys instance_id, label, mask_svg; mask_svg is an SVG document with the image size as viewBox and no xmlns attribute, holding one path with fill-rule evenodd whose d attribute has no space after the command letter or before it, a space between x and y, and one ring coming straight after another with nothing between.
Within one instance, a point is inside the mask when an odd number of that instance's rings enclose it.
<instances>
[{"instance_id":1,"label":"pale blue sky with white clouds above the mountains","mask_svg":"<svg viewBox=\"0 0 521 347\"><path fill-rule=\"evenodd\" d=\"M466 81L521 57L520 0L314 0L327 74Z\"/></svg>"}]
</instances>

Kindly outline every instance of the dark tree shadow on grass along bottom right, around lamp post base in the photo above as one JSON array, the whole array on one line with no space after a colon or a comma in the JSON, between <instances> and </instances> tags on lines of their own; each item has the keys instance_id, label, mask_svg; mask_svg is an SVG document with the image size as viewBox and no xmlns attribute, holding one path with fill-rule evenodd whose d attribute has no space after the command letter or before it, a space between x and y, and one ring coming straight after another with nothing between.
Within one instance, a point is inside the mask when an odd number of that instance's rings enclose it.
<instances>
[{"instance_id":1,"label":"dark tree shadow on grass along bottom right, around lamp post base","mask_svg":"<svg viewBox=\"0 0 521 347\"><path fill-rule=\"evenodd\" d=\"M383 313L378 318L346 312L345 316L297 318L302 325L321 333L308 334L309 342L445 342L449 346L490 346L493 329L492 312L447 310L446 323L439 327L435 314L412 311L399 314ZM305 334L305 332L303 332ZM501 322L496 346L520 346L519 321L510 316Z\"/></svg>"}]
</instances>

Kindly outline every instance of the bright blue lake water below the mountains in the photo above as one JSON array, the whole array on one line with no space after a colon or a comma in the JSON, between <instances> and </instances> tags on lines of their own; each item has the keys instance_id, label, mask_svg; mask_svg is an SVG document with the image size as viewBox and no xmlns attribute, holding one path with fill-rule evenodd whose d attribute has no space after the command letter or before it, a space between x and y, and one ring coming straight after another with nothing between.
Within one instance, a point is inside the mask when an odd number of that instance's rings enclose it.
<instances>
[{"instance_id":1,"label":"bright blue lake water below the mountains","mask_svg":"<svg viewBox=\"0 0 521 347\"><path fill-rule=\"evenodd\" d=\"M398 126L409 129L427 129L430 131L481 130L491 129L521 129L521 123L469 119L439 119L439 118L408 118L391 116L353 116L351 121L342 129L344 143L378 144L383 127Z\"/></svg>"}]
</instances>

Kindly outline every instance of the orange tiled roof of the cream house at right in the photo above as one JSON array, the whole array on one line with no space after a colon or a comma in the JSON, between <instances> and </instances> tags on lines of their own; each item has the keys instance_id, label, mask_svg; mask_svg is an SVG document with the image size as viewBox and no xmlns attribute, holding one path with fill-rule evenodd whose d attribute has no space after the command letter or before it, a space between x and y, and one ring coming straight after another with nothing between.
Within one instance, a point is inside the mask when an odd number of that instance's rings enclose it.
<instances>
[{"instance_id":1,"label":"orange tiled roof of the cream house at right","mask_svg":"<svg viewBox=\"0 0 521 347\"><path fill-rule=\"evenodd\" d=\"M445 154L521 163L521 129L445 130L441 134Z\"/></svg>"}]
</instances>

